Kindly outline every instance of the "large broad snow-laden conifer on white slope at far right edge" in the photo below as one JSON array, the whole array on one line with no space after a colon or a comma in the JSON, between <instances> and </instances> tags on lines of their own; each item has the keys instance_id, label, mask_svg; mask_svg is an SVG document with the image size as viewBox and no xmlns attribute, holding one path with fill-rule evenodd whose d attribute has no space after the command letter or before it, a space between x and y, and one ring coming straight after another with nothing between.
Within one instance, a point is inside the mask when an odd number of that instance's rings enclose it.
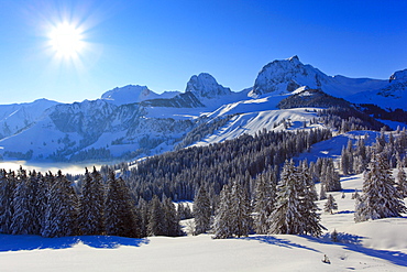
<instances>
[{"instance_id":1,"label":"large broad snow-laden conifer on white slope at far right edge","mask_svg":"<svg viewBox=\"0 0 407 272\"><path fill-rule=\"evenodd\" d=\"M356 200L355 221L399 217L405 210L387 161L382 154L373 155L363 182L363 195Z\"/></svg>"}]
</instances>

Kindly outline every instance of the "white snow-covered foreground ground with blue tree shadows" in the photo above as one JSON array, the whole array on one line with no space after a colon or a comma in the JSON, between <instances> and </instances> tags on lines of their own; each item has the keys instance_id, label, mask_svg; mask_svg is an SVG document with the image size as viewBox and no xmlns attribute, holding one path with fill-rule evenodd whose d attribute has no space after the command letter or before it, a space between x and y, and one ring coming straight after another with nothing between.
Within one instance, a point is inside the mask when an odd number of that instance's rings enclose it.
<instances>
[{"instance_id":1,"label":"white snow-covered foreground ground with blue tree shadows","mask_svg":"<svg viewBox=\"0 0 407 272\"><path fill-rule=\"evenodd\" d=\"M41 238L0 235L0 271L406 271L407 217L355 224L355 188L362 175L342 178L338 210L321 214L321 238L250 236L180 238ZM318 188L317 188L318 189ZM407 200L407 199L405 199ZM326 200L318 202L322 208ZM329 233L339 232L338 242ZM331 264L321 260L323 255Z\"/></svg>"}]
</instances>

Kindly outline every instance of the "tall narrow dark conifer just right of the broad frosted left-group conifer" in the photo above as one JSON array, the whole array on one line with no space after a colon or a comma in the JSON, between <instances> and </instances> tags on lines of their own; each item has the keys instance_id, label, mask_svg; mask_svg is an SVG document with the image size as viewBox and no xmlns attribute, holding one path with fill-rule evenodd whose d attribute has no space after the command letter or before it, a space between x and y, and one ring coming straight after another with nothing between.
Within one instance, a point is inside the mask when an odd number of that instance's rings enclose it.
<instances>
[{"instance_id":1,"label":"tall narrow dark conifer just right of the broad frosted left-group conifer","mask_svg":"<svg viewBox=\"0 0 407 272\"><path fill-rule=\"evenodd\" d=\"M85 236L99 236L105 232L105 189L102 177L94 167L90 175L86 168L80 196L79 228Z\"/></svg>"}]
</instances>

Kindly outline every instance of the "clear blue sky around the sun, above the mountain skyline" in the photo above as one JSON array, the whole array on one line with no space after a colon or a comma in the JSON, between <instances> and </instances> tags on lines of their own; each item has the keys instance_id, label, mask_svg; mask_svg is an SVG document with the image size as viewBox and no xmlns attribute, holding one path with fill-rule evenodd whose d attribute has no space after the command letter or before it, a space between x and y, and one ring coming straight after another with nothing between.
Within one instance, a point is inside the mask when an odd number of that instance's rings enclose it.
<instances>
[{"instance_id":1,"label":"clear blue sky around the sun, above the mountain skyline","mask_svg":"<svg viewBox=\"0 0 407 272\"><path fill-rule=\"evenodd\" d=\"M51 25L82 29L78 57L50 51ZM0 104L96 99L128 84L185 90L210 73L241 90L298 55L328 75L407 68L407 1L0 0Z\"/></svg>"}]
</instances>

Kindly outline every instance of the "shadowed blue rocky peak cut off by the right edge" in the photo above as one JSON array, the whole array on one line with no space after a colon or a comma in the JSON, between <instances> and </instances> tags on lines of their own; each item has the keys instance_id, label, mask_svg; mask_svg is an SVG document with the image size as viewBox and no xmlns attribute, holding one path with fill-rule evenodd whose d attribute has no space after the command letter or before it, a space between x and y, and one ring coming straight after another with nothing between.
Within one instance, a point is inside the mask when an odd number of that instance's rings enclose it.
<instances>
[{"instance_id":1,"label":"shadowed blue rocky peak cut off by the right edge","mask_svg":"<svg viewBox=\"0 0 407 272\"><path fill-rule=\"evenodd\" d=\"M402 99L407 96L407 69L397 70L389 78L389 84L380 89L377 95Z\"/></svg>"}]
</instances>

